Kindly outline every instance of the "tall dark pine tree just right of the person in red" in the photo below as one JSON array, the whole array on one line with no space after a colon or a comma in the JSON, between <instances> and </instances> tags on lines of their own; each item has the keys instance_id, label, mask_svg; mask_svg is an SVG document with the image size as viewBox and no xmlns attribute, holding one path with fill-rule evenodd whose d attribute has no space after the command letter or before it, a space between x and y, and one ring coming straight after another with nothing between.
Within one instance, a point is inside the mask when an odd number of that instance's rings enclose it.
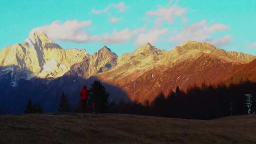
<instances>
[{"instance_id":1,"label":"tall dark pine tree just right of the person in red","mask_svg":"<svg viewBox=\"0 0 256 144\"><path fill-rule=\"evenodd\" d=\"M94 104L94 112L106 112L110 94L106 91L101 81L94 81L91 84L91 102Z\"/></svg>"}]
</instances>

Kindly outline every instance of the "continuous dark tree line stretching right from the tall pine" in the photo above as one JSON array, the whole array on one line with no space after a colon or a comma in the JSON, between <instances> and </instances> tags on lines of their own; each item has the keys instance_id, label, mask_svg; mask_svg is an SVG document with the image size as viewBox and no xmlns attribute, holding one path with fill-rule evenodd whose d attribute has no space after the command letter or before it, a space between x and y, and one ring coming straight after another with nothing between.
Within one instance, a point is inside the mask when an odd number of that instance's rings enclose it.
<instances>
[{"instance_id":1,"label":"continuous dark tree line stretching right from the tall pine","mask_svg":"<svg viewBox=\"0 0 256 144\"><path fill-rule=\"evenodd\" d=\"M161 92L153 102L120 102L112 104L110 112L157 117L176 117L189 119L212 119L230 115L247 114L245 94L256 96L256 83L250 81L239 84L219 84L190 86L186 91ZM232 105L232 109L231 108ZM252 111L256 112L256 99Z\"/></svg>"}]
</instances>

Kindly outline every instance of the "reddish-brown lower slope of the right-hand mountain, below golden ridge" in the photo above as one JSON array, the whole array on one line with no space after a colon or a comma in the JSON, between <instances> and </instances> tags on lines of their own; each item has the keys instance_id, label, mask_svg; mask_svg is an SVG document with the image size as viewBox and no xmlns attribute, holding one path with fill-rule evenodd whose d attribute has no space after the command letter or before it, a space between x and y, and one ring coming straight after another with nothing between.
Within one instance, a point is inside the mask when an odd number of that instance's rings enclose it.
<instances>
[{"instance_id":1,"label":"reddish-brown lower slope of the right-hand mountain, below golden ridge","mask_svg":"<svg viewBox=\"0 0 256 144\"><path fill-rule=\"evenodd\" d=\"M130 79L132 76L128 75L110 82L122 87L132 100L145 102L155 99L155 96L161 91L165 94L169 93L176 86L186 90L193 84L219 83L228 79L242 65L241 63L225 62L211 54L200 53L173 67L157 66L136 79ZM101 79L104 79L104 75Z\"/></svg>"}]
</instances>

